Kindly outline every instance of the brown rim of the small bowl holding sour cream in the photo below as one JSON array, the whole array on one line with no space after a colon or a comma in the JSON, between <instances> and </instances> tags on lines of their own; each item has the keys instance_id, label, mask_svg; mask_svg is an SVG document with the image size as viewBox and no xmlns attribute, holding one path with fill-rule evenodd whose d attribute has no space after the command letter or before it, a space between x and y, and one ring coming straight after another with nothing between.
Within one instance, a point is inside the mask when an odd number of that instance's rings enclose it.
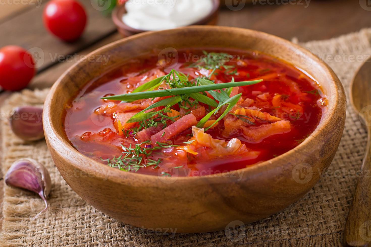
<instances>
[{"instance_id":1,"label":"brown rim of the small bowl holding sour cream","mask_svg":"<svg viewBox=\"0 0 371 247\"><path fill-rule=\"evenodd\" d=\"M202 25L207 20L209 20L217 11L219 11L220 0L211 0L211 1L213 2L213 9L211 9L210 13L207 16L203 17L202 19L200 19L200 20L198 20L198 21L196 21L192 24L189 24L187 26ZM151 30L135 29L134 27L128 26L127 24L124 23L124 21L122 21L122 16L124 15L125 4L126 3L127 3L127 1L125 1L123 4L116 7L112 11L112 20L115 23L115 25L118 27L118 29L124 29L124 30L130 31L131 33L143 33L143 32L147 32L147 31L151 31ZM161 30L161 31L163 31L163 30Z\"/></svg>"}]
</instances>

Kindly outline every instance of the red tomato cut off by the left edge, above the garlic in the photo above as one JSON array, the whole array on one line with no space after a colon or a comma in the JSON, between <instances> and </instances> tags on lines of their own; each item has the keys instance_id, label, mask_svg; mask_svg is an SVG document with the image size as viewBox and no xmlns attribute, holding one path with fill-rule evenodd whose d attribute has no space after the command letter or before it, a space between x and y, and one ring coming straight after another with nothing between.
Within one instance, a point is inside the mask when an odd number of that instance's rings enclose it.
<instances>
[{"instance_id":1,"label":"red tomato cut off by the left edge, above the garlic","mask_svg":"<svg viewBox=\"0 0 371 247\"><path fill-rule=\"evenodd\" d=\"M3 89L24 89L34 75L35 61L30 53L19 46L0 49L0 86Z\"/></svg>"}]
</instances>

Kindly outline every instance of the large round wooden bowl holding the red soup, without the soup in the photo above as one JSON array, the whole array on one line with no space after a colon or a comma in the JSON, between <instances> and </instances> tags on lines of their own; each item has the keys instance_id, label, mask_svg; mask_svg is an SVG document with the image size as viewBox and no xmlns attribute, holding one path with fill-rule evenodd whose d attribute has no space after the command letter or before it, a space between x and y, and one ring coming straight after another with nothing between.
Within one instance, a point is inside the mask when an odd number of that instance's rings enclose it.
<instances>
[{"instance_id":1,"label":"large round wooden bowl holding the red soup, without the soup","mask_svg":"<svg viewBox=\"0 0 371 247\"><path fill-rule=\"evenodd\" d=\"M205 39L204 37L207 37ZM328 106L316 130L281 156L238 171L170 178L123 172L73 148L63 130L63 106L85 83L139 54L194 47L258 50L292 63L321 82ZM133 226L199 233L250 223L276 213L305 195L331 163L342 136L346 99L334 72L307 50L270 34L218 26L146 32L108 44L80 61L53 85L45 101L46 143L60 174L85 201Z\"/></svg>"}]
</instances>

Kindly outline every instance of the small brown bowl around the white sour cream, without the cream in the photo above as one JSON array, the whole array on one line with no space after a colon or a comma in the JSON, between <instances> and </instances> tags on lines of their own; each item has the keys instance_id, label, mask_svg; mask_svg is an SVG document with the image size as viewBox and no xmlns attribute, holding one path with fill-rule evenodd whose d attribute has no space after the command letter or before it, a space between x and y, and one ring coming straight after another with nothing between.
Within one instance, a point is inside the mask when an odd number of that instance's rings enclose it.
<instances>
[{"instance_id":1,"label":"small brown bowl around the white sour cream, without the cream","mask_svg":"<svg viewBox=\"0 0 371 247\"><path fill-rule=\"evenodd\" d=\"M213 4L214 4L213 9L206 17L191 25L216 25L219 14L220 0L213 0ZM114 11L112 11L112 20L114 21L117 30L119 31L119 33L122 34L123 37L128 37L133 34L138 34L146 31L135 29L125 24L122 21L122 16L125 13L126 13L125 3L116 7Z\"/></svg>"}]
</instances>

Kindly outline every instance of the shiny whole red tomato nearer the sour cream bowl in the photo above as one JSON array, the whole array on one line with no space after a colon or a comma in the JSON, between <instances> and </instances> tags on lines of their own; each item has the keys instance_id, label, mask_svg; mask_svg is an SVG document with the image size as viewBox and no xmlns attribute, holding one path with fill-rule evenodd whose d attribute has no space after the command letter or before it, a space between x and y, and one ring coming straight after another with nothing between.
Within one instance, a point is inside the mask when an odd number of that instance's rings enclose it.
<instances>
[{"instance_id":1,"label":"shiny whole red tomato nearer the sour cream bowl","mask_svg":"<svg viewBox=\"0 0 371 247\"><path fill-rule=\"evenodd\" d=\"M76 0L52 0L43 13L45 27L64 41L78 39L85 29L86 12Z\"/></svg>"}]
</instances>

